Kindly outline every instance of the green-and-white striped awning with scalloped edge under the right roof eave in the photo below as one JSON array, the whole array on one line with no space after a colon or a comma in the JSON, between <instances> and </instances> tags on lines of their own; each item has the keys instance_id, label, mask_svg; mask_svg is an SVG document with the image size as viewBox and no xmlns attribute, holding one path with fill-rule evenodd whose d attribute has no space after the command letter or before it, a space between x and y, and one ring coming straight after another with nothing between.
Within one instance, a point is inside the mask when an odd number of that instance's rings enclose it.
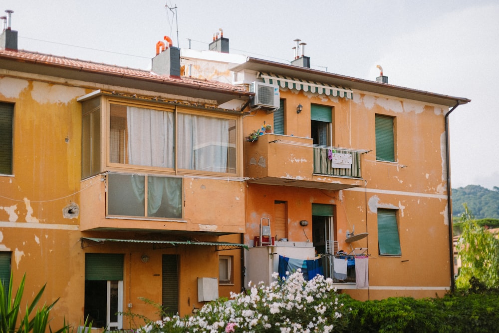
<instances>
[{"instance_id":1,"label":"green-and-white striped awning with scalloped edge under the right roof eave","mask_svg":"<svg viewBox=\"0 0 499 333\"><path fill-rule=\"evenodd\" d=\"M289 88L295 90L303 90L304 92L312 92L324 94L326 96L345 97L353 99L353 91L349 88L336 86L328 83L319 83L294 77L277 75L273 73L260 73L263 82L276 84L281 88Z\"/></svg>"}]
</instances>

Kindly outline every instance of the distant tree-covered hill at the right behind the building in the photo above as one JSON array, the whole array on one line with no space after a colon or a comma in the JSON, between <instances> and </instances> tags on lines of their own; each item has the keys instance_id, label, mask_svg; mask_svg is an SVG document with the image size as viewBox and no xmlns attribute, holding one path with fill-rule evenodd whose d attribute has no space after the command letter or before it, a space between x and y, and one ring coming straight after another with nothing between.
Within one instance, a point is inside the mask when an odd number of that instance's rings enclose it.
<instances>
[{"instance_id":1,"label":"distant tree-covered hill at the right behind the building","mask_svg":"<svg viewBox=\"0 0 499 333\"><path fill-rule=\"evenodd\" d=\"M464 212L464 203L468 205L468 209L477 220L499 219L499 188L497 187L494 187L494 191L480 185L452 189L453 217L461 216Z\"/></svg>"}]
</instances>

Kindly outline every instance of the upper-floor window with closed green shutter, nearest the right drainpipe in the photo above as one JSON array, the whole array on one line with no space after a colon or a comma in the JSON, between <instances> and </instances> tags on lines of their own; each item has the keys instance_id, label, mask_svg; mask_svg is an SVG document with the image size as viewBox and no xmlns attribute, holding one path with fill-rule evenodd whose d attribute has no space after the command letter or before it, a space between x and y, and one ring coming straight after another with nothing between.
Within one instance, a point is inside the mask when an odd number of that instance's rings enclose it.
<instances>
[{"instance_id":1,"label":"upper-floor window with closed green shutter, nearest the right drainpipe","mask_svg":"<svg viewBox=\"0 0 499 333\"><path fill-rule=\"evenodd\" d=\"M380 162L397 162L397 137L396 137L396 117L375 114L375 154L376 161ZM391 131L386 128L390 124L386 124L386 121L391 121ZM385 122L385 123L382 123ZM391 145L391 146L388 146Z\"/></svg>"}]
</instances>

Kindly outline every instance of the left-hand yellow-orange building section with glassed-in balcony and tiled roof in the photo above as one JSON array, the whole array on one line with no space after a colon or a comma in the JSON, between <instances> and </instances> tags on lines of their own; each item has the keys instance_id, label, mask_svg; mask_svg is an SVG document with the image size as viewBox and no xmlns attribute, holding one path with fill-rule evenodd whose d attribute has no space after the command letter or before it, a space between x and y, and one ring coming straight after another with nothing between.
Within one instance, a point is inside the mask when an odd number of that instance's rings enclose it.
<instances>
[{"instance_id":1,"label":"left-hand yellow-orange building section with glassed-in balcony and tiled roof","mask_svg":"<svg viewBox=\"0 0 499 333\"><path fill-rule=\"evenodd\" d=\"M26 298L46 283L52 328L241 291L250 93L181 77L175 47L146 71L17 50L16 33L0 38L1 281L26 273Z\"/></svg>"}]
</instances>

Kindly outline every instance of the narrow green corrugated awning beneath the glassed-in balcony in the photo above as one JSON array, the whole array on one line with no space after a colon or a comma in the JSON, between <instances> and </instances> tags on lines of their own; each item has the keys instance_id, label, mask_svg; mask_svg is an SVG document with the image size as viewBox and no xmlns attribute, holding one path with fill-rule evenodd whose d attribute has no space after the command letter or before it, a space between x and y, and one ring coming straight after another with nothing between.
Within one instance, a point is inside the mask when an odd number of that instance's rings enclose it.
<instances>
[{"instance_id":1,"label":"narrow green corrugated awning beneath the glassed-in balcony","mask_svg":"<svg viewBox=\"0 0 499 333\"><path fill-rule=\"evenodd\" d=\"M112 243L145 243L153 244L157 246L155 248L165 248L173 247L177 245L205 245L205 246L215 246L215 251L221 250L234 250L239 248L244 248L248 250L248 245L238 244L238 243L228 243L228 242L198 242L198 241L157 241L157 240L140 240L140 239L116 239L116 238L93 238L93 237L81 237L81 248L86 248L94 245L102 245L106 242Z\"/></svg>"}]
</instances>

